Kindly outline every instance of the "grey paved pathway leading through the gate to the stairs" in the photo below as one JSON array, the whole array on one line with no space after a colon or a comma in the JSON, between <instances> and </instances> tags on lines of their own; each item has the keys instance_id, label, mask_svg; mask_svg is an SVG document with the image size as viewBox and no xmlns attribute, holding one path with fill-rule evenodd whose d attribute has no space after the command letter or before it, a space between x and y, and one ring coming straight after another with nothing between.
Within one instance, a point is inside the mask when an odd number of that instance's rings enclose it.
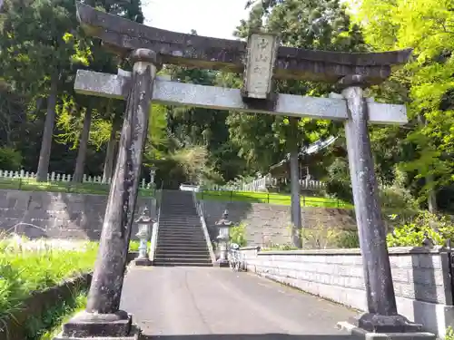
<instances>
[{"instance_id":1,"label":"grey paved pathway leading through the gate to the stairs","mask_svg":"<svg viewBox=\"0 0 454 340\"><path fill-rule=\"evenodd\" d=\"M346 340L357 312L249 273L217 267L131 267L122 308L149 339Z\"/></svg>"}]
</instances>

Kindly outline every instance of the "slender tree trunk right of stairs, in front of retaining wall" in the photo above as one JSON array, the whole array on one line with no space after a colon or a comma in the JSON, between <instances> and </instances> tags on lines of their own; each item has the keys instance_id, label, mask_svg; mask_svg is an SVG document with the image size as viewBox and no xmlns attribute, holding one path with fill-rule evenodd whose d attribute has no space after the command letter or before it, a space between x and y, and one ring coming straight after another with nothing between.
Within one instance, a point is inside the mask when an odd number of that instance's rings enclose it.
<instances>
[{"instance_id":1,"label":"slender tree trunk right of stairs, in front of retaining wall","mask_svg":"<svg viewBox=\"0 0 454 340\"><path fill-rule=\"evenodd\" d=\"M290 151L290 178L291 178L291 239L293 245L302 248L301 240L301 196L300 176L298 165L298 120L291 118L291 138L289 139Z\"/></svg>"}]
</instances>

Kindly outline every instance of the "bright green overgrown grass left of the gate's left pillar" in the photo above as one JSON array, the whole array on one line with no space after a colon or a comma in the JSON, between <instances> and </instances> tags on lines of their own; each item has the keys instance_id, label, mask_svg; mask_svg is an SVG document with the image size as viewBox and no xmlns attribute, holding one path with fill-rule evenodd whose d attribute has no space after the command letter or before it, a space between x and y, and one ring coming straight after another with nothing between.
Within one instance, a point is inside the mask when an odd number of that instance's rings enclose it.
<instances>
[{"instance_id":1,"label":"bright green overgrown grass left of the gate's left pillar","mask_svg":"<svg viewBox=\"0 0 454 340\"><path fill-rule=\"evenodd\" d=\"M33 249L33 242L0 241L0 324L22 306L31 292L93 270L98 248L94 242L77 249Z\"/></svg>"}]
</instances>

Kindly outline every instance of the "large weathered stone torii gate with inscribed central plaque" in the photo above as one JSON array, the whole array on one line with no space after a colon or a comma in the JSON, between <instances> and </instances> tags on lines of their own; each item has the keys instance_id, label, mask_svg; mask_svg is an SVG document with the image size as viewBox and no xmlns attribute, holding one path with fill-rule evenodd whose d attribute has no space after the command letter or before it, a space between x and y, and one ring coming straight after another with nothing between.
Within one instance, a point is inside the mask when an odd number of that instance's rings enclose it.
<instances>
[{"instance_id":1,"label":"large weathered stone torii gate with inscribed central plaque","mask_svg":"<svg viewBox=\"0 0 454 340\"><path fill-rule=\"evenodd\" d=\"M406 123L406 109L363 96L364 88L390 76L392 65L406 63L411 50L310 51L279 46L275 35L262 33L251 34L244 43L160 30L76 5L85 32L102 39L114 53L129 57L133 71L80 70L75 80L76 92L126 100L127 106L87 306L64 325L58 339L133 339L139 332L119 306L151 102L345 121L369 307L352 322L372 335L408 336L420 331L421 325L397 313L368 133L370 123ZM243 73L243 88L171 82L156 76L163 63ZM342 91L331 98L273 93L273 79L337 83Z\"/></svg>"}]
</instances>

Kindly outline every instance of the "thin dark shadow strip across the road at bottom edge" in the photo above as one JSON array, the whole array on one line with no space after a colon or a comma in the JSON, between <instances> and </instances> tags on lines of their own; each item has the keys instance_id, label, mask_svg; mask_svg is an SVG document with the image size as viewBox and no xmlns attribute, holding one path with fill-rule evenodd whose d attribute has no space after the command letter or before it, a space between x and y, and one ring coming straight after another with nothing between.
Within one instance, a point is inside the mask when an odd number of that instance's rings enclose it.
<instances>
[{"instance_id":1,"label":"thin dark shadow strip across the road at bottom edge","mask_svg":"<svg viewBox=\"0 0 454 340\"><path fill-rule=\"evenodd\" d=\"M143 340L353 340L354 335L286 335L268 333L258 335L230 334L230 335L143 335Z\"/></svg>"}]
</instances>

